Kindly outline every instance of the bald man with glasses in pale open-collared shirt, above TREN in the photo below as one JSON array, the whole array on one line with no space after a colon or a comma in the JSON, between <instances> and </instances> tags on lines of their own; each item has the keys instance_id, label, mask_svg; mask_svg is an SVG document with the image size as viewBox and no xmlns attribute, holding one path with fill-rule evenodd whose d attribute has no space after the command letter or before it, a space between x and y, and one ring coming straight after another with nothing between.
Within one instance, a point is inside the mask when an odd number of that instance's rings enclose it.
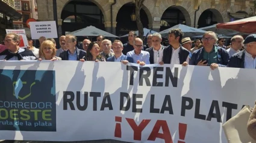
<instances>
[{"instance_id":1,"label":"bald man with glasses in pale open-collared shirt, above TREN","mask_svg":"<svg viewBox=\"0 0 256 143\"><path fill-rule=\"evenodd\" d=\"M142 50L143 41L140 38L135 38L133 43L134 50L127 53L127 56L133 58L133 61L140 65L150 64L149 52Z\"/></svg>"}]
</instances>

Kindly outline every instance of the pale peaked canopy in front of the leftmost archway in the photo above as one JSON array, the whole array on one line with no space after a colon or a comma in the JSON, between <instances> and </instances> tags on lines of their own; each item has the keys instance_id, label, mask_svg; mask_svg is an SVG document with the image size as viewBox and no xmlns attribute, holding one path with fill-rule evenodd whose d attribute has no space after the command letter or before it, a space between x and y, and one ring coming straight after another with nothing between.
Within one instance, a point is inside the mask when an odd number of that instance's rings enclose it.
<instances>
[{"instance_id":1,"label":"pale peaked canopy in front of the leftmost archway","mask_svg":"<svg viewBox=\"0 0 256 143\"><path fill-rule=\"evenodd\" d=\"M69 34L72 34L72 35L75 35L75 36L98 36L98 35L103 35L104 37L117 37L116 35L113 35L113 34L110 34L106 31L98 29L95 26L87 26L86 28L70 32Z\"/></svg>"}]
</instances>

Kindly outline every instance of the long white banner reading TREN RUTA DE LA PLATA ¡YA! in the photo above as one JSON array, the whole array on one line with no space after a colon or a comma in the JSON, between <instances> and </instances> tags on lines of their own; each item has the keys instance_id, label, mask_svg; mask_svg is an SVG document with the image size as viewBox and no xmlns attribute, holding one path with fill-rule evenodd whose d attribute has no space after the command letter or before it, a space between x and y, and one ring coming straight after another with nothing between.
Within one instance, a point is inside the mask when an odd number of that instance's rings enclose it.
<instances>
[{"instance_id":1,"label":"long white banner reading TREN RUTA DE LA PLATA \u00a1YA!","mask_svg":"<svg viewBox=\"0 0 256 143\"><path fill-rule=\"evenodd\" d=\"M0 139L227 142L255 70L174 66L0 61Z\"/></svg>"}]
</instances>

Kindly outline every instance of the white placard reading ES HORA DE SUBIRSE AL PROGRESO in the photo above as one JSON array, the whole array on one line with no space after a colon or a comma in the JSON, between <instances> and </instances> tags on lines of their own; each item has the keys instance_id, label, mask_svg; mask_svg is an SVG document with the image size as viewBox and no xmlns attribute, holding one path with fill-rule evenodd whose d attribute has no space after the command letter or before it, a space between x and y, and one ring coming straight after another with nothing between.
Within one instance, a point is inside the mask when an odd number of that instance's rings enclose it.
<instances>
[{"instance_id":1,"label":"white placard reading ES HORA DE SUBIRSE AL PROGRESO","mask_svg":"<svg viewBox=\"0 0 256 143\"><path fill-rule=\"evenodd\" d=\"M39 39L41 36L46 38L58 38L56 22L30 22L31 37Z\"/></svg>"}]
</instances>

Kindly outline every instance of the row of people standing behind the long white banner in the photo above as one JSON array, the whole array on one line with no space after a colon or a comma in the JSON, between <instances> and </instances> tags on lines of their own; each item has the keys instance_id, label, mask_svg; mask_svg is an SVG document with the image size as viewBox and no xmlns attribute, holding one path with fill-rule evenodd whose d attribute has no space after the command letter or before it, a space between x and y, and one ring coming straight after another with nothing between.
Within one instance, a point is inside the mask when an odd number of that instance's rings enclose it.
<instances>
[{"instance_id":1,"label":"row of people standing behind the long white banner","mask_svg":"<svg viewBox=\"0 0 256 143\"><path fill-rule=\"evenodd\" d=\"M169 31L169 46L163 46L159 33L149 34L147 43L130 31L128 43L120 40L113 43L102 35L97 41L83 40L83 49L78 48L74 35L61 35L60 48L57 49L53 38L40 37L40 47L33 46L33 40L27 35L29 46L19 47L19 35L7 34L4 45L0 46L0 60L70 60L70 61L107 61L145 64L182 64L217 67L255 68L256 35L242 35L231 38L230 46L225 46L225 38L217 38L212 31L205 32L202 39L192 41L183 38L181 29ZM192 45L195 47L192 48ZM217 44L216 44L217 43Z\"/></svg>"}]
</instances>

